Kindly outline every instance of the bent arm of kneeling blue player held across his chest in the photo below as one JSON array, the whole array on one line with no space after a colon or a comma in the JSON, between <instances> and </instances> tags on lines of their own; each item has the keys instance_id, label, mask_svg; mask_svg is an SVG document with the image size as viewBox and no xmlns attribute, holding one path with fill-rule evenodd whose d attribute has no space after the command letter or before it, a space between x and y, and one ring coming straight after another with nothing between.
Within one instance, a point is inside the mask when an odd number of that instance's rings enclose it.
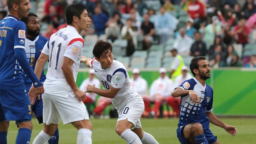
<instances>
[{"instance_id":1,"label":"bent arm of kneeling blue player held across his chest","mask_svg":"<svg viewBox=\"0 0 256 144\"><path fill-rule=\"evenodd\" d=\"M179 96L186 96L187 94L189 94L191 100L192 100L194 103L196 103L197 101L198 101L198 102L200 101L200 99L199 99L197 93L194 92L193 90L183 90L183 89L181 89L181 88L176 88L176 89L173 90L173 92L172 92L172 96L173 96L174 98L177 98L177 97L179 97Z\"/></svg>"}]
</instances>

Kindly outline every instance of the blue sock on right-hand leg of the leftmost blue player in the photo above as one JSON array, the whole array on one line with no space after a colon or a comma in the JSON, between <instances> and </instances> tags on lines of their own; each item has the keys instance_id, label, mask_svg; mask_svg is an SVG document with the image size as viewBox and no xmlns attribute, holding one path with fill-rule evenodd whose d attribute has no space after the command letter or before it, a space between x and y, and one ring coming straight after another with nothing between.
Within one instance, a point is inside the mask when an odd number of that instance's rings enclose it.
<instances>
[{"instance_id":1,"label":"blue sock on right-hand leg of the leftmost blue player","mask_svg":"<svg viewBox=\"0 0 256 144\"><path fill-rule=\"evenodd\" d=\"M31 130L27 128L20 128L17 138L16 144L29 144L31 137Z\"/></svg>"}]
</instances>

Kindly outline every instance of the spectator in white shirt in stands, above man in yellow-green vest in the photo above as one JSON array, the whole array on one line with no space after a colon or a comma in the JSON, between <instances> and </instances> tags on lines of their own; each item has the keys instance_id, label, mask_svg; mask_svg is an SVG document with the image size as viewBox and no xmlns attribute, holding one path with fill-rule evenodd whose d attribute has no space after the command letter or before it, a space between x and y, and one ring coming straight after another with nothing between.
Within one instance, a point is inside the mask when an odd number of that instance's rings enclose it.
<instances>
[{"instance_id":1,"label":"spectator in white shirt in stands, above man in yellow-green vest","mask_svg":"<svg viewBox=\"0 0 256 144\"><path fill-rule=\"evenodd\" d=\"M178 36L174 42L173 48L176 48L180 55L188 56L193 42L193 39L187 36L185 29L181 28L180 36Z\"/></svg>"}]
</instances>

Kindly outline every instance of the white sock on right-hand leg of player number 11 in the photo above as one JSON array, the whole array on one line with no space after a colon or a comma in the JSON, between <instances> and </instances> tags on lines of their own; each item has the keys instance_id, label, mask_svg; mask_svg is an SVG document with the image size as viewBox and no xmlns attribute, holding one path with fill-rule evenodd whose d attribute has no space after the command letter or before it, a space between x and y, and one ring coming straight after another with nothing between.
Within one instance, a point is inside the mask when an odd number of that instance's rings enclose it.
<instances>
[{"instance_id":1,"label":"white sock on right-hand leg of player number 11","mask_svg":"<svg viewBox=\"0 0 256 144\"><path fill-rule=\"evenodd\" d=\"M91 134L92 131L89 129L79 129L76 144L92 144Z\"/></svg>"}]
</instances>

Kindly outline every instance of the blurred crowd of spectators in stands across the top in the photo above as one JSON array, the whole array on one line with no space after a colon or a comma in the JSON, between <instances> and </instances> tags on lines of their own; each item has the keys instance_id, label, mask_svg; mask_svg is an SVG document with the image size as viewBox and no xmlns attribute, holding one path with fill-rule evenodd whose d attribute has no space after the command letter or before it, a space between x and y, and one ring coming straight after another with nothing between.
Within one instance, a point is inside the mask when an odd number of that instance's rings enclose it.
<instances>
[{"instance_id":1,"label":"blurred crowd of spectators in stands across the top","mask_svg":"<svg viewBox=\"0 0 256 144\"><path fill-rule=\"evenodd\" d=\"M30 0L43 36L67 25L65 8L73 2L84 4L91 18L81 33L88 57L105 39L130 68L169 69L173 49L185 65L202 55L213 68L256 67L256 0ZM0 19L6 14L1 0Z\"/></svg>"}]
</instances>

